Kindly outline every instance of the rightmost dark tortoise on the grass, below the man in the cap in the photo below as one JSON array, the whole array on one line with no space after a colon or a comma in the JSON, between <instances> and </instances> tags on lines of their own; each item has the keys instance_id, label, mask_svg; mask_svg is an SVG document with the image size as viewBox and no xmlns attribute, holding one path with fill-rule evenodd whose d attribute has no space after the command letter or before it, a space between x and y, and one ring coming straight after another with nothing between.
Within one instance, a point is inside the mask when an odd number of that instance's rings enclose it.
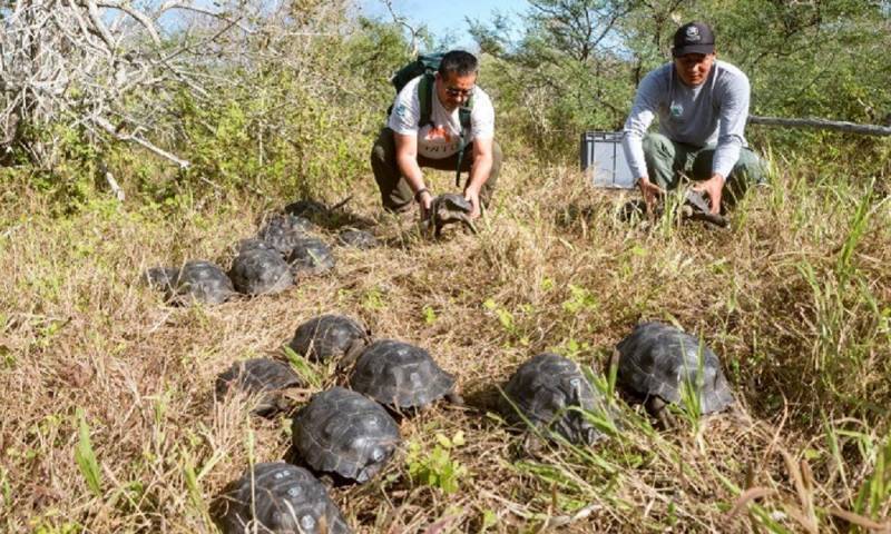
<instances>
[{"instance_id":1,"label":"rightmost dark tortoise on the grass, below the man in the cap","mask_svg":"<svg viewBox=\"0 0 891 534\"><path fill-rule=\"evenodd\" d=\"M697 337L662 323L643 323L616 346L618 383L664 426L665 407L679 403L685 388L698 398L699 413L733 404L717 355Z\"/></svg>"}]
</instances>

